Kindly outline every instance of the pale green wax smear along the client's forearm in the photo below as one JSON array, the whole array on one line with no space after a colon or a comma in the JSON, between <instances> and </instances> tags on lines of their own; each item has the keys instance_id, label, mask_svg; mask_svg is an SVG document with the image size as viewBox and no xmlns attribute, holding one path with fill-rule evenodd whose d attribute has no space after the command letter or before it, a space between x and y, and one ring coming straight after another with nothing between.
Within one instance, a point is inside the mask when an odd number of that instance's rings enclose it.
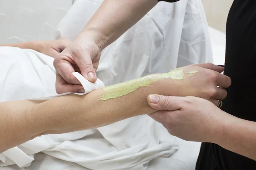
<instances>
[{"instance_id":1,"label":"pale green wax smear along the client's forearm","mask_svg":"<svg viewBox=\"0 0 256 170\"><path fill-rule=\"evenodd\" d=\"M186 76L190 76L195 74L197 71L189 71L186 72ZM151 74L149 76L141 77L139 79L134 79L128 82L122 82L116 85L111 85L102 88L103 94L100 97L101 100L108 100L113 99L116 97L124 96L135 91L139 87L151 85L153 82L156 82L160 79L175 79L175 80L182 80L184 79L185 75L182 68L177 68L169 73L165 74Z\"/></svg>"}]
</instances>

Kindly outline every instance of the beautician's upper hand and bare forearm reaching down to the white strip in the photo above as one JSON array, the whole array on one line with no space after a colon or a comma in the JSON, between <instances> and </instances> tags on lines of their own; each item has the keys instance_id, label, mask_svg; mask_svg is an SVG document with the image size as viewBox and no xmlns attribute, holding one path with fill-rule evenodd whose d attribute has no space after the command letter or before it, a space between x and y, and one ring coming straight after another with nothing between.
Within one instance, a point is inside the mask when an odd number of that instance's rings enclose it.
<instances>
[{"instance_id":1,"label":"beautician's upper hand and bare forearm reaching down to the white strip","mask_svg":"<svg viewBox=\"0 0 256 170\"><path fill-rule=\"evenodd\" d=\"M56 92L62 94L83 89L72 74L75 70L95 82L102 50L157 3L157 0L104 0L81 34L55 58Z\"/></svg>"}]
</instances>

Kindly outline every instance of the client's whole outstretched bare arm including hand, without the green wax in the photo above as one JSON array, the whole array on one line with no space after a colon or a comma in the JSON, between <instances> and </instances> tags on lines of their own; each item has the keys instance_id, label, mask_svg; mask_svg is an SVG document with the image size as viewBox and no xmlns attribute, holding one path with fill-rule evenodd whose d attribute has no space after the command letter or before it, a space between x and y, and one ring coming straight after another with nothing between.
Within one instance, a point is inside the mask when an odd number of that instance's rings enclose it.
<instances>
[{"instance_id":1,"label":"client's whole outstretched bare arm including hand, without the green wax","mask_svg":"<svg viewBox=\"0 0 256 170\"><path fill-rule=\"evenodd\" d=\"M223 69L212 64L190 65L183 70L198 71L191 77L183 80L161 79L125 96L105 101L100 100L102 89L97 89L84 96L2 102L0 153L44 134L86 130L154 113L155 110L147 102L149 94L198 96L212 102L215 97L223 99L227 92L216 86L228 87L231 83L229 77L220 74Z\"/></svg>"}]
</instances>

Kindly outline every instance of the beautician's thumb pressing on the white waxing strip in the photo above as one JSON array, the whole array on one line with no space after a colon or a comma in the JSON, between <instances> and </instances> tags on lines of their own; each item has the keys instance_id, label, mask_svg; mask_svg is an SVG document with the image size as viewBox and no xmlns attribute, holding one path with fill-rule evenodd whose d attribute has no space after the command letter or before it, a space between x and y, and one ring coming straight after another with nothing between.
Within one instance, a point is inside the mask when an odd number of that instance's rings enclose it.
<instances>
[{"instance_id":1,"label":"beautician's thumb pressing on the white waxing strip","mask_svg":"<svg viewBox=\"0 0 256 170\"><path fill-rule=\"evenodd\" d=\"M82 76L90 82L96 82L97 77L93 68L93 62L89 51L85 50L81 56L74 57L76 65L79 67Z\"/></svg>"}]
</instances>

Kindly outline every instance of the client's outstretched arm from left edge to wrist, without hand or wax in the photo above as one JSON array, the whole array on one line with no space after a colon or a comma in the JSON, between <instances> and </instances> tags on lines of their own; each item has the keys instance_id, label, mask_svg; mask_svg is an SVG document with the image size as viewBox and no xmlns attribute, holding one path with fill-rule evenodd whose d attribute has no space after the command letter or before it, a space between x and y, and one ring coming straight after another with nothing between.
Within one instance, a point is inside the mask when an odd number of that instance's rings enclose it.
<instances>
[{"instance_id":1,"label":"client's outstretched arm from left edge to wrist, without hand or wax","mask_svg":"<svg viewBox=\"0 0 256 170\"><path fill-rule=\"evenodd\" d=\"M148 76L148 81L151 76ZM2 102L0 153L44 134L86 130L153 113L147 96L177 95L177 89L174 89L179 87L180 81L160 79L126 95L106 100L101 98L103 89L97 89L84 96L67 95L47 101Z\"/></svg>"}]
</instances>

